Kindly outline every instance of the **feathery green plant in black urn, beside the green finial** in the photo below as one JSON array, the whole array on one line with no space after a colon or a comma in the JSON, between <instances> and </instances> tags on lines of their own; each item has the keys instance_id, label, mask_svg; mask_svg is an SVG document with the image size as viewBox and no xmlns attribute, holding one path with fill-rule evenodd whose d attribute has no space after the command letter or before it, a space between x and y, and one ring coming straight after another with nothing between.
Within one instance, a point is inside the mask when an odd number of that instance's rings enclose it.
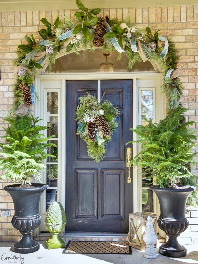
<instances>
[{"instance_id":1,"label":"feathery green plant in black urn, beside the green finial","mask_svg":"<svg viewBox=\"0 0 198 264\"><path fill-rule=\"evenodd\" d=\"M0 170L4 171L1 179L9 179L11 182L20 182L4 187L4 190L12 196L15 214L12 225L22 234L19 242L13 246L16 253L32 253L39 250L40 244L31 238L35 228L41 223L39 214L40 196L48 185L41 182L41 174L45 166L43 159L48 156L46 150L53 143L45 138L40 131L47 129L45 126L36 125L39 118L33 116L7 117L9 128L4 131L5 144L1 144ZM36 178L40 183L31 183Z\"/></svg>"}]
</instances>

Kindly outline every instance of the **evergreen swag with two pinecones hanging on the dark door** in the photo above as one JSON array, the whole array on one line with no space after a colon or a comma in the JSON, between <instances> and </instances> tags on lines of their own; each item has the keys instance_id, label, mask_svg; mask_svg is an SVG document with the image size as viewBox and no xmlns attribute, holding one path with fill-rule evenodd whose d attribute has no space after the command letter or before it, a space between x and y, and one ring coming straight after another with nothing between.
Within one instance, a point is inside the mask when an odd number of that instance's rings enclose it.
<instances>
[{"instance_id":1,"label":"evergreen swag with two pinecones hanging on the dark door","mask_svg":"<svg viewBox=\"0 0 198 264\"><path fill-rule=\"evenodd\" d=\"M105 92L101 102L90 93L79 97L76 110L77 135L87 143L88 155L96 162L105 158L107 143L111 141L111 136L118 126L116 117L119 111L108 100L102 103L104 95Z\"/></svg>"}]
</instances>

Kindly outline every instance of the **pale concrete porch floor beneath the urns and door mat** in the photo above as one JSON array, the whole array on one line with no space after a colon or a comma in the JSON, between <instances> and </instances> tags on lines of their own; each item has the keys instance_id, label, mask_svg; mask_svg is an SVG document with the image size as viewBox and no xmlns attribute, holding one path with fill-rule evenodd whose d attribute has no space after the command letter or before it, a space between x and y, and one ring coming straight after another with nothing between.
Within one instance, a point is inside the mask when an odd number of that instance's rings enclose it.
<instances>
[{"instance_id":1,"label":"pale concrete porch floor beneath the urns and door mat","mask_svg":"<svg viewBox=\"0 0 198 264\"><path fill-rule=\"evenodd\" d=\"M113 255L113 254L62 254L63 249L48 250L45 242L40 243L40 250L31 254L22 254L21 260L4 260L5 257L13 257L20 254L14 253L12 250L14 242L0 242L0 263L21 263L21 264L177 264L177 263L198 263L198 247L186 245L187 256L184 258L168 258L158 253L158 257L154 260L149 260L143 257L143 251L132 248L132 255ZM3 254L6 253L6 254ZM3 256L2 256L3 255ZM24 258L24 261L23 261Z\"/></svg>"}]
</instances>

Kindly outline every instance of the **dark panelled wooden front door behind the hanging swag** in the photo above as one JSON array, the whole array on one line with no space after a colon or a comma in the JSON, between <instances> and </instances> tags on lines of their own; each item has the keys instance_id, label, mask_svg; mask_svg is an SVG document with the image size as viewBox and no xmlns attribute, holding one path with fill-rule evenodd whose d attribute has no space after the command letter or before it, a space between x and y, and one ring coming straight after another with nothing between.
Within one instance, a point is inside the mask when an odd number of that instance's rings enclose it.
<instances>
[{"instance_id":1,"label":"dark panelled wooden front door behind the hanging swag","mask_svg":"<svg viewBox=\"0 0 198 264\"><path fill-rule=\"evenodd\" d=\"M78 98L98 96L98 81L66 81L66 232L128 232L133 212L133 180L127 183L126 142L132 140L132 80L101 80L101 97L119 109L116 132L103 161L88 157L86 143L76 135ZM131 170L132 171L132 170ZM131 178L133 178L131 172Z\"/></svg>"}]
</instances>

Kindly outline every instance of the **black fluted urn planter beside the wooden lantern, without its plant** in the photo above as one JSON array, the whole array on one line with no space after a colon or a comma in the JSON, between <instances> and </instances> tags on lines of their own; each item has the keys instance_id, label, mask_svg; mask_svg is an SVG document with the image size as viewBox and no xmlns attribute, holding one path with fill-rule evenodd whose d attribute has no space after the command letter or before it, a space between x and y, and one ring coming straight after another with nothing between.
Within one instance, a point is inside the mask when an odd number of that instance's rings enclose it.
<instances>
[{"instance_id":1,"label":"black fluted urn planter beside the wooden lantern, without its plant","mask_svg":"<svg viewBox=\"0 0 198 264\"><path fill-rule=\"evenodd\" d=\"M159 253L167 257L185 257L186 248L179 244L177 237L188 227L188 220L185 217L186 202L196 188L186 186L185 189L163 189L155 185L149 188L159 199L161 213L157 220L158 226L168 235L168 241L159 247Z\"/></svg>"}]
</instances>

